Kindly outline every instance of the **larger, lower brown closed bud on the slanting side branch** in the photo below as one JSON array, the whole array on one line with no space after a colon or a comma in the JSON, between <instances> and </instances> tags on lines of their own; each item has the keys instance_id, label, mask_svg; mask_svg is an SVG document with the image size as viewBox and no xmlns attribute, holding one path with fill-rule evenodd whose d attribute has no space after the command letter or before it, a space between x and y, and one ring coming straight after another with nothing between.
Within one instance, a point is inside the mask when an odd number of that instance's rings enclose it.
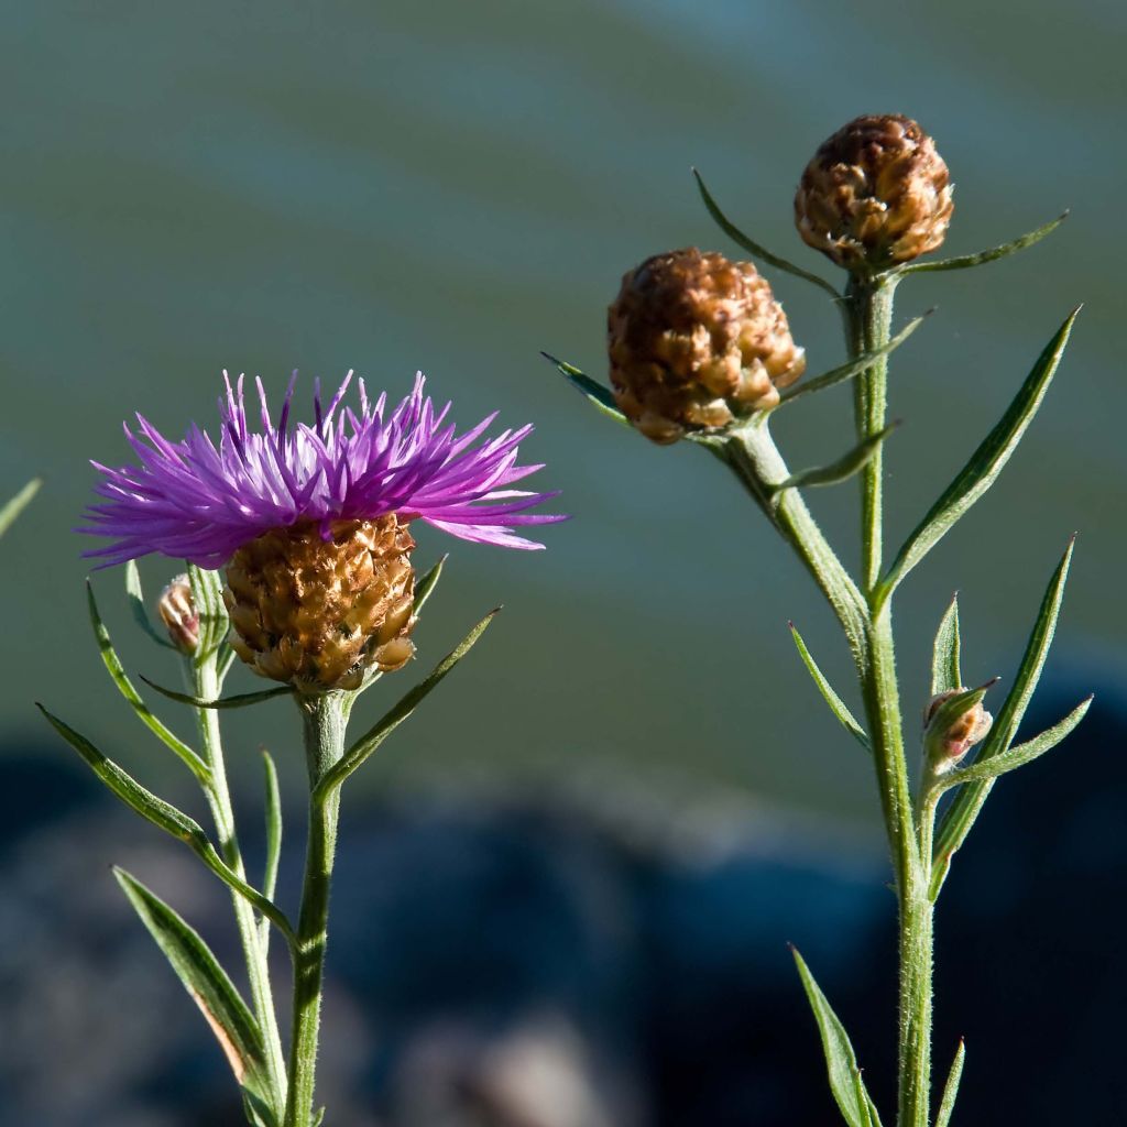
<instances>
[{"instance_id":1,"label":"larger, lower brown closed bud on the slanting side branch","mask_svg":"<svg viewBox=\"0 0 1127 1127\"><path fill-rule=\"evenodd\" d=\"M623 276L607 310L607 350L619 407L663 444L774 407L806 367L755 267L695 247Z\"/></svg>"}]
</instances>

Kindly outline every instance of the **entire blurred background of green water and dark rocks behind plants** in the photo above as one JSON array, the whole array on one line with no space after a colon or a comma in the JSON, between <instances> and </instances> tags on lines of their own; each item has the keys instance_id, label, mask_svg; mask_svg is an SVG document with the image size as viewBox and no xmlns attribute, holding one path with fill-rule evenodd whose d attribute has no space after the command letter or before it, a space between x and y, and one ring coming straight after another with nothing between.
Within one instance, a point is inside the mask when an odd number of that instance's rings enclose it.
<instances>
[{"instance_id":1,"label":"entire blurred background of green water and dark rocks behind plants","mask_svg":"<svg viewBox=\"0 0 1127 1127\"><path fill-rule=\"evenodd\" d=\"M90 545L70 530L88 459L127 459L122 420L140 410L172 436L188 419L214 426L224 367L275 394L296 367L304 401L314 375L354 367L396 398L421 369L463 426L498 408L505 425L535 423L525 452L548 468L534 480L574 515L531 556L418 530L420 564L452 558L419 660L364 716L505 611L347 796L331 1127L834 1121L787 941L889 1106L893 900L875 789L787 630L793 619L844 692L834 623L715 463L607 424L539 356L604 378L604 310L625 269L694 243L737 252L691 166L754 238L828 276L792 229L793 188L826 135L872 112L935 136L957 184L944 254L1073 210L1019 257L900 289L898 323L939 311L894 363L891 543L1086 303L1001 481L899 596L913 716L951 592L967 677L1008 681L1080 531L1035 719L1099 696L1065 748L997 788L956 863L937 1070L965 1035L960 1124L1127 1122L1127 9L45 0L10 6L3 30L0 492L45 485L0 545L0 1122L239 1121L219 1050L108 864L157 886L230 962L224 896L117 809L32 707L204 817L105 676L85 610ZM841 363L824 295L770 276L811 374ZM851 427L842 389L777 433L802 467L841 453ZM813 504L855 558L853 490ZM175 570L143 561L149 592ZM121 573L95 585L130 671L175 683L168 651L130 622ZM257 687L241 671L229 684ZM184 710L160 711L190 731ZM252 858L256 748L282 765L291 899L293 719L274 702L225 721Z\"/></svg>"}]
</instances>

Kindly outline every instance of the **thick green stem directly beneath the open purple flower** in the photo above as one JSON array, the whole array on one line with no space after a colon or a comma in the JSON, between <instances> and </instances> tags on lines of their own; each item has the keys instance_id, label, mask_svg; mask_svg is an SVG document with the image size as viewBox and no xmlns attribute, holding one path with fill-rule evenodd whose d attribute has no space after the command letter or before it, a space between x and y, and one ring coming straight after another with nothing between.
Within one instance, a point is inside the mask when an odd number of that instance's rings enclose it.
<instances>
[{"instance_id":1,"label":"thick green stem directly beneath the open purple flower","mask_svg":"<svg viewBox=\"0 0 1127 1127\"><path fill-rule=\"evenodd\" d=\"M317 1039L321 1014L329 890L337 843L338 787L318 783L345 749L348 698L343 692L302 698L305 760L309 766L309 841L298 919L293 971L293 1031L290 1042L290 1091L283 1127L311 1127L317 1082Z\"/></svg>"}]
</instances>

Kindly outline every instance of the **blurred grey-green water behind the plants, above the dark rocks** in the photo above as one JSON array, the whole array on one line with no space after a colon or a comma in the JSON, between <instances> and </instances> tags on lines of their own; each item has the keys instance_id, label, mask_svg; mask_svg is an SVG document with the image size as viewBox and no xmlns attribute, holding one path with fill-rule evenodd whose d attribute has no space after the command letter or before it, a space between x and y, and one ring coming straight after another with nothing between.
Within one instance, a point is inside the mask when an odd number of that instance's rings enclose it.
<instances>
[{"instance_id":1,"label":"blurred grey-green water behind the plants, above the dark rocks","mask_svg":"<svg viewBox=\"0 0 1127 1127\"><path fill-rule=\"evenodd\" d=\"M126 459L123 418L141 410L172 433L211 424L223 367L278 389L299 367L305 391L314 374L355 367L392 396L423 369L463 423L495 408L534 421L527 452L575 520L547 530L535 556L420 530L420 560L453 557L419 662L388 694L481 612L506 609L366 784L614 764L868 817L864 763L786 629L795 619L848 681L808 580L699 451L607 424L538 353L602 375L604 307L623 270L675 246L734 251L692 165L763 242L828 273L790 225L791 193L817 143L872 110L916 116L938 139L958 185L951 252L1073 208L1017 259L902 287L902 316L939 312L894 365L894 543L1068 309L1088 303L1003 480L905 586L907 711L923 702L930 635L955 588L968 677L1011 674L1074 529L1051 668L1120 676L1120 6L47 0L3 24L0 483L46 479L0 545L5 744L42 740L70 767L32 709L43 699L183 798L104 676L70 531L94 480L87 459ZM811 372L840 362L823 296L773 281ZM795 465L836 455L848 392L778 431ZM849 487L815 498L850 551L854 503ZM174 569L143 574L156 588ZM172 662L130 629L121 576L95 583L130 667L175 683ZM290 719L282 706L233 718L248 780L256 743L296 755Z\"/></svg>"}]
</instances>

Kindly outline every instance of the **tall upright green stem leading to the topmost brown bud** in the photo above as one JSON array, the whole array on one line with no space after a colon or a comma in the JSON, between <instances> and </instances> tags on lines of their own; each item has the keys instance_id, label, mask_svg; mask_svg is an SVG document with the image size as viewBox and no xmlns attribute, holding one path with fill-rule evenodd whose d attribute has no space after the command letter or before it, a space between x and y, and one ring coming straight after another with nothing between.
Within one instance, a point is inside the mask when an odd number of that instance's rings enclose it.
<instances>
[{"instance_id":1,"label":"tall upright green stem leading to the topmost brown bud","mask_svg":"<svg viewBox=\"0 0 1127 1127\"><path fill-rule=\"evenodd\" d=\"M895 278L854 276L846 290L848 345L851 356L884 347L890 336ZM881 356L855 381L858 435L864 440L885 427L888 360ZM863 589L869 603L869 662L861 677L876 761L881 807L888 831L899 906L899 1127L928 1127L931 1103L931 997L933 905L929 895L931 849L917 840L904 752L899 689L893 639L891 600L877 592L882 570L884 455L880 449L861 477ZM920 810L923 820L934 808ZM930 826L920 827L930 838Z\"/></svg>"}]
</instances>

